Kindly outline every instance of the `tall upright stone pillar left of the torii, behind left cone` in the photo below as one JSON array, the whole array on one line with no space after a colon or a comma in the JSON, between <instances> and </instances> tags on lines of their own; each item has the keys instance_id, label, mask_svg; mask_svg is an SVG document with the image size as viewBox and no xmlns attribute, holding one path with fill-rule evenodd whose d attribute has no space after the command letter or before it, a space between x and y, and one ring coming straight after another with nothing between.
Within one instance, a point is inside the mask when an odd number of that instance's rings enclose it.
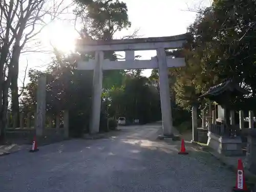
<instances>
[{"instance_id":1,"label":"tall upright stone pillar left of the torii, behind left cone","mask_svg":"<svg viewBox=\"0 0 256 192\"><path fill-rule=\"evenodd\" d=\"M38 78L36 102L36 135L42 136L46 121L46 77L44 76Z\"/></svg>"}]
</instances>

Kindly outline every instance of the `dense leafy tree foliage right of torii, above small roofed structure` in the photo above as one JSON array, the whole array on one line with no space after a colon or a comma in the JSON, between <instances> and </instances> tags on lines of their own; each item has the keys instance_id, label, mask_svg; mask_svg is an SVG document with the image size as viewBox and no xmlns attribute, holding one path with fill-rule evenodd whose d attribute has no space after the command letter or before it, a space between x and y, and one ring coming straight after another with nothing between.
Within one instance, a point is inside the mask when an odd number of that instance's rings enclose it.
<instances>
[{"instance_id":1,"label":"dense leafy tree foliage right of torii, above small roofed structure","mask_svg":"<svg viewBox=\"0 0 256 192\"><path fill-rule=\"evenodd\" d=\"M183 51L186 67L173 70L182 108L190 109L199 95L227 78L255 96L255 9L253 0L219 0L200 11L188 28L190 37Z\"/></svg>"}]
</instances>

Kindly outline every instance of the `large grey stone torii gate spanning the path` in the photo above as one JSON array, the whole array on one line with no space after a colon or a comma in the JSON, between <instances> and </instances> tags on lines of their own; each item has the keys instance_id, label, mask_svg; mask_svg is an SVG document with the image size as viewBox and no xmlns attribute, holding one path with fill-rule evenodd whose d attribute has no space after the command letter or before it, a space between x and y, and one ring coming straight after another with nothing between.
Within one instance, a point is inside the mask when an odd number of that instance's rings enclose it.
<instances>
[{"instance_id":1,"label":"large grey stone torii gate spanning the path","mask_svg":"<svg viewBox=\"0 0 256 192\"><path fill-rule=\"evenodd\" d=\"M159 69L159 87L161 98L161 112L163 135L173 136L172 111L170 108L170 93L168 82L168 68L185 66L184 58L166 57L165 49L181 48L186 40L186 34L169 37L150 37L135 39L115 39L111 41L77 41L77 51L81 54L95 52L95 59L78 62L78 70L94 70L93 73L93 103L90 133L99 132L102 71L129 69ZM157 57L151 60L135 60L134 51L156 50ZM104 59L104 51L124 51L124 61Z\"/></svg>"}]
</instances>

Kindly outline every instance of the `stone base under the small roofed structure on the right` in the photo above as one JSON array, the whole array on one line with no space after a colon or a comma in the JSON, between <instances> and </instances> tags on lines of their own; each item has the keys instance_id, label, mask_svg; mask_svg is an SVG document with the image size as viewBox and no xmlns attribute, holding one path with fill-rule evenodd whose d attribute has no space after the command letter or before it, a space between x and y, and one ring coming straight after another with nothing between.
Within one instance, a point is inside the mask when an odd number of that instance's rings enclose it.
<instances>
[{"instance_id":1,"label":"stone base under the small roofed structure on the right","mask_svg":"<svg viewBox=\"0 0 256 192\"><path fill-rule=\"evenodd\" d=\"M225 156L243 155L241 137L225 138L209 132L207 145Z\"/></svg>"}]
</instances>

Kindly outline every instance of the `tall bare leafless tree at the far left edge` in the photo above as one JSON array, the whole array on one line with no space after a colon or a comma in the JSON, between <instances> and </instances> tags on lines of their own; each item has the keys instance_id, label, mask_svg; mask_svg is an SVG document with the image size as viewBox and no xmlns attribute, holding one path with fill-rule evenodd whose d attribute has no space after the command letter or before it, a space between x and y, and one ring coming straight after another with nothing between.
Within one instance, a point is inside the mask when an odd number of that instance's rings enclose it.
<instances>
[{"instance_id":1,"label":"tall bare leafless tree at the far left edge","mask_svg":"<svg viewBox=\"0 0 256 192\"><path fill-rule=\"evenodd\" d=\"M56 3L54 0L0 2L0 39L3 41L0 58L0 136L6 126L9 88L12 90L13 112L18 113L19 56L26 44L31 42L47 23L65 10L61 8L62 3L63 1Z\"/></svg>"}]
</instances>

